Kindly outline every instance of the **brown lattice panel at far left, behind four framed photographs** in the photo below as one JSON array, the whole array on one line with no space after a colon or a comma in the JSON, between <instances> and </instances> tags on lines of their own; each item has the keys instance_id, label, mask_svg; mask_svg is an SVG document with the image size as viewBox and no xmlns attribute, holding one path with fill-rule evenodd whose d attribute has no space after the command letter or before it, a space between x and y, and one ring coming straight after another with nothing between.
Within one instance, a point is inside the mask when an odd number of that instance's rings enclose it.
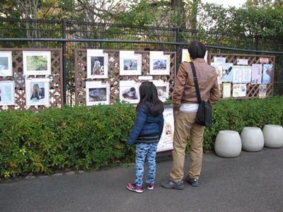
<instances>
[{"instance_id":1,"label":"brown lattice panel at far left, behind four framed photographs","mask_svg":"<svg viewBox=\"0 0 283 212\"><path fill-rule=\"evenodd\" d=\"M63 75L62 75L62 49L0 49L2 52L12 52L13 76L0 77L0 81L14 81L16 84L16 105L0 105L2 110L33 110L40 111L46 107L62 107L63 105ZM49 76L24 76L23 51L50 51L51 74ZM25 78L50 79L50 105L25 105Z\"/></svg>"}]
</instances>

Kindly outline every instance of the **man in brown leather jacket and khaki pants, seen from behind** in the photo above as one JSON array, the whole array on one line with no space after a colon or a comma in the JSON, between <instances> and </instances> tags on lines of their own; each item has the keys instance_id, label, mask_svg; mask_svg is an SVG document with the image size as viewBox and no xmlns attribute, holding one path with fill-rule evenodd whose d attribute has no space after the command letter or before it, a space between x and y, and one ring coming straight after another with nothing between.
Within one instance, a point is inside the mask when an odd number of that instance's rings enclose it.
<instances>
[{"instance_id":1,"label":"man in brown leather jacket and khaki pants, seen from behind","mask_svg":"<svg viewBox=\"0 0 283 212\"><path fill-rule=\"evenodd\" d=\"M202 42L191 42L188 51L195 64L200 96L202 100L209 102L213 106L220 98L216 70L204 61L206 48ZM173 167L170 172L170 180L162 182L162 187L167 189L184 188L183 167L188 136L190 136L191 141L190 158L192 161L188 170L189 174L185 180L193 187L199 186L198 181L202 169L204 126L195 122L197 108L197 94L192 76L192 68L190 63L184 62L180 64L173 91L173 110L175 112L174 148L172 151Z\"/></svg>"}]
</instances>

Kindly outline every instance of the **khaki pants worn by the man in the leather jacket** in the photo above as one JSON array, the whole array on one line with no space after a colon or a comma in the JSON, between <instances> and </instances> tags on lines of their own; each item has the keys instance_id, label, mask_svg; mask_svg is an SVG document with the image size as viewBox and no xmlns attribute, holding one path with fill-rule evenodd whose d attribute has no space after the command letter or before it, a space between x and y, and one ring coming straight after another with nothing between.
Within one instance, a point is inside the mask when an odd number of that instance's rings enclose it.
<instances>
[{"instance_id":1,"label":"khaki pants worn by the man in the leather jacket","mask_svg":"<svg viewBox=\"0 0 283 212\"><path fill-rule=\"evenodd\" d=\"M199 179L202 169L202 141L204 126L195 123L197 113L179 111L175 116L173 140L173 167L170 172L171 181L180 182L184 177L185 148L190 136L189 177Z\"/></svg>"}]
</instances>

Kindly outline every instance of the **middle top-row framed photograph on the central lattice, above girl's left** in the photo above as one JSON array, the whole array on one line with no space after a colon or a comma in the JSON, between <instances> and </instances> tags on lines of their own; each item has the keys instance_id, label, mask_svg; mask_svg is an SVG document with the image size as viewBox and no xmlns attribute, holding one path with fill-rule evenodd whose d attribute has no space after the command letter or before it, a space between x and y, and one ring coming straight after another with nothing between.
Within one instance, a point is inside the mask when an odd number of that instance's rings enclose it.
<instances>
[{"instance_id":1,"label":"middle top-row framed photograph on the central lattice, above girl's left","mask_svg":"<svg viewBox=\"0 0 283 212\"><path fill-rule=\"evenodd\" d=\"M141 75L141 54L134 54L134 51L120 51L120 75Z\"/></svg>"}]
</instances>

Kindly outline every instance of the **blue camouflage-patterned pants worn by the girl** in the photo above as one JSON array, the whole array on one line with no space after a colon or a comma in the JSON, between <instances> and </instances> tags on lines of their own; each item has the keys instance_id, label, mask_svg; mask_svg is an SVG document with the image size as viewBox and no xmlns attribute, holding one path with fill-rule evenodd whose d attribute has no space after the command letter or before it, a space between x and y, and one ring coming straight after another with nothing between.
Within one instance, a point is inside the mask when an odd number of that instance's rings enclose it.
<instances>
[{"instance_id":1,"label":"blue camouflage-patterned pants worn by the girl","mask_svg":"<svg viewBox=\"0 0 283 212\"><path fill-rule=\"evenodd\" d=\"M144 176L144 160L147 158L149 166L149 175L146 177L146 183L154 183L156 173L156 143L137 143L136 145L136 180L134 181L138 187L142 185Z\"/></svg>"}]
</instances>

